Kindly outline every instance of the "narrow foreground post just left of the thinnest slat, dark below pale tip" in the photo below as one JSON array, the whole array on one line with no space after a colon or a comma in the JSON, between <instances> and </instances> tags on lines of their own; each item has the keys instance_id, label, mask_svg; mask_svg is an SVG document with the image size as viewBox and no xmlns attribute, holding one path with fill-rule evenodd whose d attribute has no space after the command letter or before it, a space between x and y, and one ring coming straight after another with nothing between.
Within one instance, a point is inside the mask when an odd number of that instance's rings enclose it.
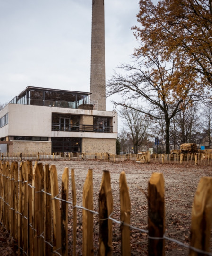
<instances>
[{"instance_id":1,"label":"narrow foreground post just left of the thinnest slat, dark below pale tip","mask_svg":"<svg viewBox=\"0 0 212 256\"><path fill-rule=\"evenodd\" d=\"M61 244L62 255L68 256L68 204L69 199L69 168L65 168L62 174L61 186Z\"/></svg>"}]
</instances>

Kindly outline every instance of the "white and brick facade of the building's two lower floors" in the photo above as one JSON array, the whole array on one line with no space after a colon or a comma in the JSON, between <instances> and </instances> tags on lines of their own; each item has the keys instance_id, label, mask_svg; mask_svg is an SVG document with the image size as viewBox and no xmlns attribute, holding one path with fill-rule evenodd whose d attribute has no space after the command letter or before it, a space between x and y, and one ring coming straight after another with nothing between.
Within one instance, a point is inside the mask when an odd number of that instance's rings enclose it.
<instances>
[{"instance_id":1,"label":"white and brick facade of the building's two lower floors","mask_svg":"<svg viewBox=\"0 0 212 256\"><path fill-rule=\"evenodd\" d=\"M80 120L78 125L80 128L77 131L53 129L52 117L57 114L77 116ZM0 141L10 142L8 144L9 153L30 150L52 151L52 141L58 140L58 138L64 138L61 139L64 141L63 144L66 144L65 138L67 141L70 140L69 138L73 138L73 140L79 138L78 152L103 152L102 149L105 148L105 152L115 153L118 130L116 112L9 103L0 111L0 118L4 115L7 115L8 123L0 128ZM93 128L94 117L107 118L109 120L108 127L112 130L109 132L95 130ZM30 137L29 141L27 141L27 137ZM42 138L45 140L43 141Z\"/></svg>"}]
</instances>

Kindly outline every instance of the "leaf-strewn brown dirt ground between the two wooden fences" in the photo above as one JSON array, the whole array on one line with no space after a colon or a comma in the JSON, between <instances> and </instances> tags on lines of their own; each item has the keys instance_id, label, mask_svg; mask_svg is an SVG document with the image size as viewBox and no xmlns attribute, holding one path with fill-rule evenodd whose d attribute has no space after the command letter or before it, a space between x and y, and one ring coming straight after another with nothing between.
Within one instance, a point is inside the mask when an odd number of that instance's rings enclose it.
<instances>
[{"instance_id":1,"label":"leaf-strewn brown dirt ground between the two wooden fences","mask_svg":"<svg viewBox=\"0 0 212 256\"><path fill-rule=\"evenodd\" d=\"M165 180L166 201L166 236L185 244L190 240L191 209L199 180L203 176L212 176L212 166L173 165L173 164L139 164L132 161L109 163L102 161L48 161L43 165L56 165L59 184L65 167L69 168L71 196L71 169L75 170L77 205L82 206L83 184L88 169L93 169L94 210L98 211L98 194L103 170L109 170L113 193L113 218L120 220L119 176L125 171L131 199L131 225L147 230L147 192L148 181L153 172L161 172ZM78 209L77 255L82 255L82 210ZM72 209L69 206L69 252L72 254ZM3 238L2 238L3 237ZM8 242L7 242L8 241ZM5 243L6 242L6 243ZM131 255L147 255L147 234L131 229ZM5 244L5 245L3 245ZM211 243L212 244L212 243ZM1 232L0 255L11 250L11 240ZM9 249L10 248L10 249ZM166 256L188 255L188 249L173 242L166 241ZM211 247L212 252L212 247ZM94 254L98 253L98 216L94 215ZM16 255L14 253L14 255ZM121 255L120 227L113 223L113 255Z\"/></svg>"}]
</instances>

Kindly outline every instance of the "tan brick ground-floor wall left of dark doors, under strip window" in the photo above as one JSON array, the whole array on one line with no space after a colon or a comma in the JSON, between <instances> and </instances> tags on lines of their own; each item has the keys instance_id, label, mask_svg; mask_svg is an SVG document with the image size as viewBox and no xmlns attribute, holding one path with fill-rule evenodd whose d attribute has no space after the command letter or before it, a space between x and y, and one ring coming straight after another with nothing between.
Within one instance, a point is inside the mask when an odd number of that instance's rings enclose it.
<instances>
[{"instance_id":1,"label":"tan brick ground-floor wall left of dark doors, under strip window","mask_svg":"<svg viewBox=\"0 0 212 256\"><path fill-rule=\"evenodd\" d=\"M13 141L12 145L9 145L9 153L48 153L51 151L51 141Z\"/></svg>"}]
</instances>

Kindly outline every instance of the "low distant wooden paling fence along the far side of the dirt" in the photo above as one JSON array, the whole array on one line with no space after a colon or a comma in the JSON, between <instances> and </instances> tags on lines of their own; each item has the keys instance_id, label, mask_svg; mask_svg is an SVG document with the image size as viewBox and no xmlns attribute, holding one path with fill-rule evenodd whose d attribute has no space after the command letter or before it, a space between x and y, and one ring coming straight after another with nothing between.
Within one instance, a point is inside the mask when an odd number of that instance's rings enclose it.
<instances>
[{"instance_id":1,"label":"low distant wooden paling fence along the far side of the dirt","mask_svg":"<svg viewBox=\"0 0 212 256\"><path fill-rule=\"evenodd\" d=\"M2 161L27 161L27 160L102 160L110 162L121 162L126 160L137 161L139 154L109 154L109 153L72 153L72 152L53 152L53 153L12 153L1 154ZM212 165L211 153L181 153L181 154L150 154L150 162L154 163L175 163L191 165Z\"/></svg>"}]
</instances>

